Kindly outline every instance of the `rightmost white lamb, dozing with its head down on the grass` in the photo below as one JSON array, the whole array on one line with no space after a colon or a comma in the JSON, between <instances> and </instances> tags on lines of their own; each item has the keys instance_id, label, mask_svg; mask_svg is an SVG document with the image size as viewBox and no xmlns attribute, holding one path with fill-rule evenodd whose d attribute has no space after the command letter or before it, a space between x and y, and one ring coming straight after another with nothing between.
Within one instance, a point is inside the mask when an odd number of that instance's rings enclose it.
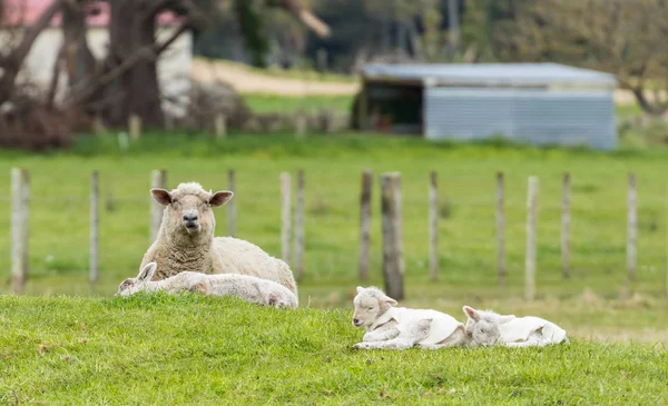
<instances>
[{"instance_id":1,"label":"rightmost white lamb, dozing with its head down on the grass","mask_svg":"<svg viewBox=\"0 0 668 406\"><path fill-rule=\"evenodd\" d=\"M466 334L474 345L504 345L508 347L547 346L569 343L566 330L540 317L499 315L492 310L477 310L463 307ZM498 336L494 338L498 330Z\"/></svg>"}]
</instances>

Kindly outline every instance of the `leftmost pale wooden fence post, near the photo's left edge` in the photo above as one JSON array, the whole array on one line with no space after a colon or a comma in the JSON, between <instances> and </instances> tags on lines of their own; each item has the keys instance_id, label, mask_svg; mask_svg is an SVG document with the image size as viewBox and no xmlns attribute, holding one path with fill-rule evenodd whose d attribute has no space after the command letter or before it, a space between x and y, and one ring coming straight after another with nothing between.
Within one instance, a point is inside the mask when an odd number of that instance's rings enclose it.
<instances>
[{"instance_id":1,"label":"leftmost pale wooden fence post, near the photo's left edge","mask_svg":"<svg viewBox=\"0 0 668 406\"><path fill-rule=\"evenodd\" d=\"M30 212L30 174L11 169L11 279L13 293L23 293L28 280L28 236Z\"/></svg>"}]
</instances>

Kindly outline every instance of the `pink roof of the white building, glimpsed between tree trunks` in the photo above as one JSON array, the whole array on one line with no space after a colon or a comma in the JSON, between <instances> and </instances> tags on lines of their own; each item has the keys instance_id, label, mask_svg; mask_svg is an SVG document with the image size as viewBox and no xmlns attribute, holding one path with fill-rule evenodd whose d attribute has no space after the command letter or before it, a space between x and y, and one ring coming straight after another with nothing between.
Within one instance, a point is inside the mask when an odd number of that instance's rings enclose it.
<instances>
[{"instance_id":1,"label":"pink roof of the white building, glimpsed between tree trunks","mask_svg":"<svg viewBox=\"0 0 668 406\"><path fill-rule=\"evenodd\" d=\"M53 0L0 0L3 2L2 23L7 26L32 26ZM109 3L92 2L88 4L86 22L89 27L107 27L109 24ZM168 26L177 22L179 17L171 11L158 14L158 24ZM57 13L51 26L60 26L61 16Z\"/></svg>"}]
</instances>

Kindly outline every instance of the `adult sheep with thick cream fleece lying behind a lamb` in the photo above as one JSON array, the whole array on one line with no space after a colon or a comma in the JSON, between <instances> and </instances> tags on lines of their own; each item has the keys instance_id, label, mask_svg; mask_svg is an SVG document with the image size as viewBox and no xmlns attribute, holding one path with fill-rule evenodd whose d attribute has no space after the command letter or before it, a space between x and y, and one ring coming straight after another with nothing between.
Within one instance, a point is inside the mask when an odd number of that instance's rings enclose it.
<instances>
[{"instance_id":1,"label":"adult sheep with thick cream fleece lying behind a lamb","mask_svg":"<svg viewBox=\"0 0 668 406\"><path fill-rule=\"evenodd\" d=\"M176 189L150 189L165 206L156 241L148 248L139 269L156 263L151 280L161 280L184 270L204 274L240 274L278 283L297 295L292 270L283 260L269 256L254 244L233 237L214 237L213 207L233 197L228 190L204 190L197 182L179 184Z\"/></svg>"}]
</instances>

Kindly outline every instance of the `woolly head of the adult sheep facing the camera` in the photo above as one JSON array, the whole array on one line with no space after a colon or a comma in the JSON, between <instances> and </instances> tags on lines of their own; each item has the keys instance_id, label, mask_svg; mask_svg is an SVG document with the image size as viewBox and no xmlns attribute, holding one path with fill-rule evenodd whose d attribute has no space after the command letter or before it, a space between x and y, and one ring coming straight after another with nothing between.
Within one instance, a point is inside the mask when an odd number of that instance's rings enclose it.
<instances>
[{"instance_id":1,"label":"woolly head of the adult sheep facing the camera","mask_svg":"<svg viewBox=\"0 0 668 406\"><path fill-rule=\"evenodd\" d=\"M233 192L220 190L212 194L202 188L197 182L179 184L171 191L165 189L150 189L157 202L165 206L161 228L170 235L204 235L213 236L216 228L216 218L212 207L225 205L233 197Z\"/></svg>"}]
</instances>

